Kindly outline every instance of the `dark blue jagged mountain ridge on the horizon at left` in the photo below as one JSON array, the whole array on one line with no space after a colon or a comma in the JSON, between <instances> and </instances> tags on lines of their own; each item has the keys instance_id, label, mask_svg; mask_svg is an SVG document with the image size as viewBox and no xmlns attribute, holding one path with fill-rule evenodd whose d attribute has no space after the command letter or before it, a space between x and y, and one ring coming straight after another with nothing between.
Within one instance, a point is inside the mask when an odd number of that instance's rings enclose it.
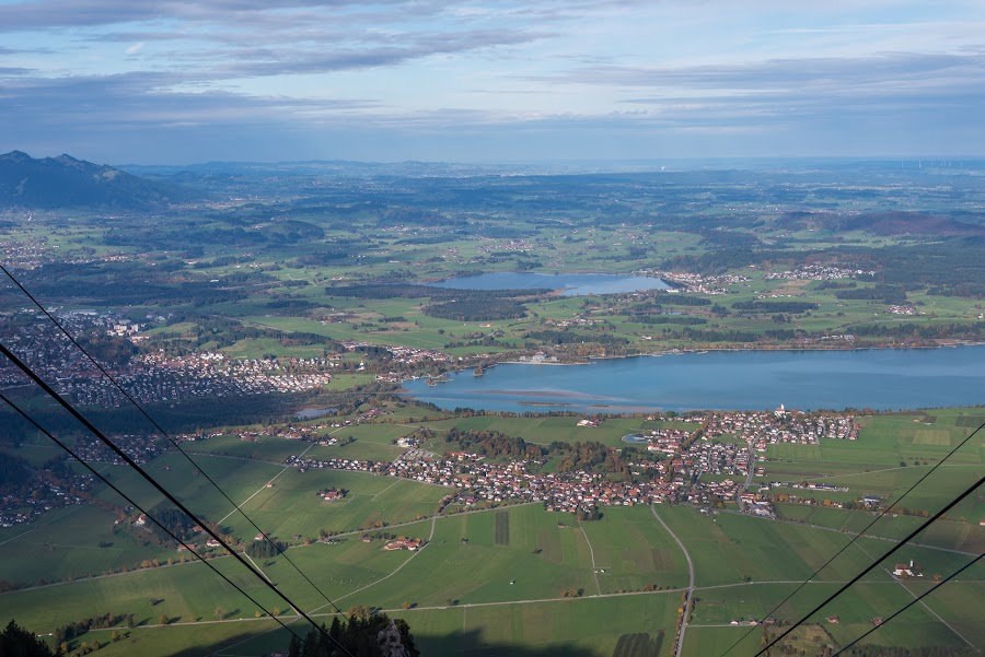
<instances>
[{"instance_id":1,"label":"dark blue jagged mountain ridge on the horizon at left","mask_svg":"<svg viewBox=\"0 0 985 657\"><path fill-rule=\"evenodd\" d=\"M182 187L147 180L70 155L0 155L0 208L153 210L193 200Z\"/></svg>"}]
</instances>

